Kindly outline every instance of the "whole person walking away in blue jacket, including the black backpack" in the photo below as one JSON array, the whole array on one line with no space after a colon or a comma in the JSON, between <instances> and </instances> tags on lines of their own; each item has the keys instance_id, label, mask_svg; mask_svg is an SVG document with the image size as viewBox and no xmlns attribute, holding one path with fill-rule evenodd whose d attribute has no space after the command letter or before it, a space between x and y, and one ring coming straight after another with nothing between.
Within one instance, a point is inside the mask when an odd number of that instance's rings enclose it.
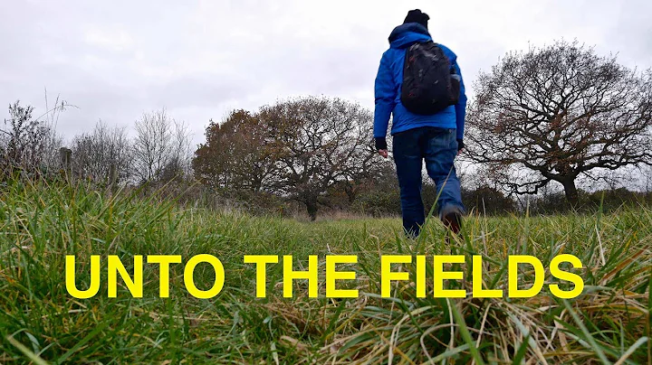
<instances>
[{"instance_id":1,"label":"whole person walking away in blue jacket, including the black backpack","mask_svg":"<svg viewBox=\"0 0 652 365\"><path fill-rule=\"evenodd\" d=\"M388 158L391 136L403 228L411 238L426 220L421 200L421 171L436 183L437 213L452 232L462 227L464 205L455 173L455 156L464 148L466 95L457 56L433 42L429 16L408 12L389 35L389 49L380 59L375 84L374 139L378 153Z\"/></svg>"}]
</instances>

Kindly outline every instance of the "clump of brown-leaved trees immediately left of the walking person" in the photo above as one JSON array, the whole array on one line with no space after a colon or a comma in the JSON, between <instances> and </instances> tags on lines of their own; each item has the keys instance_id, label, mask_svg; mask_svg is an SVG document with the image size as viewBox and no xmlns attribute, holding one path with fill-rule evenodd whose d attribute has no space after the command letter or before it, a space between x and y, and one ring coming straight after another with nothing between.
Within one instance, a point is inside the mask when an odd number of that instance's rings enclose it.
<instances>
[{"instance_id":1,"label":"clump of brown-leaved trees immediately left of the walking person","mask_svg":"<svg viewBox=\"0 0 652 365\"><path fill-rule=\"evenodd\" d=\"M372 149L371 113L339 98L297 98L237 110L206 128L193 167L216 190L268 192L301 202L314 220L341 186L349 200L382 164Z\"/></svg>"}]
</instances>

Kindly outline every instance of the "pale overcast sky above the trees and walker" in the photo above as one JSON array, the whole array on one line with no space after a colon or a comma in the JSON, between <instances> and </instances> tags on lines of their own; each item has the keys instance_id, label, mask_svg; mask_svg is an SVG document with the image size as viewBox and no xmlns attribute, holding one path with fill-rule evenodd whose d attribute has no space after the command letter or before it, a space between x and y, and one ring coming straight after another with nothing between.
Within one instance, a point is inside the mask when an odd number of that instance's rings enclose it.
<instances>
[{"instance_id":1,"label":"pale overcast sky above the trees and walker","mask_svg":"<svg viewBox=\"0 0 652 365\"><path fill-rule=\"evenodd\" d=\"M79 107L61 115L63 136L167 108L199 143L208 119L279 98L323 94L373 108L388 35L414 8L457 53L471 95L477 73L506 51L561 38L652 67L649 0L4 0L0 118L16 99L40 115L47 88Z\"/></svg>"}]
</instances>

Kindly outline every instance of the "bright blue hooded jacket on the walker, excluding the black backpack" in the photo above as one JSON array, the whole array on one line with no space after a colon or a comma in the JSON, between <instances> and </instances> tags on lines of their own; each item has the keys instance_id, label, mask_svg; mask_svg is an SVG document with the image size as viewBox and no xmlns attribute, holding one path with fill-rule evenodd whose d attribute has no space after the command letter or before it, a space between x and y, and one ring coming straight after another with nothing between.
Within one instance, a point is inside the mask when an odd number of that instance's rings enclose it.
<instances>
[{"instance_id":1,"label":"bright blue hooded jacket on the walker, excluding the black backpack","mask_svg":"<svg viewBox=\"0 0 652 365\"><path fill-rule=\"evenodd\" d=\"M452 105L432 116L420 116L411 113L403 107L400 101L401 83L403 82L403 63L406 49L415 42L431 41L426 27L419 23L404 23L394 28L389 35L389 49L380 59L378 76L376 77L376 109L374 112L374 137L387 136L389 117L393 114L391 134L403 132L420 126L437 126L440 128L456 128L456 138L464 136L466 94L464 80L461 82L460 98ZM439 44L451 61L455 72L462 78L457 66L457 56L446 46Z\"/></svg>"}]
</instances>

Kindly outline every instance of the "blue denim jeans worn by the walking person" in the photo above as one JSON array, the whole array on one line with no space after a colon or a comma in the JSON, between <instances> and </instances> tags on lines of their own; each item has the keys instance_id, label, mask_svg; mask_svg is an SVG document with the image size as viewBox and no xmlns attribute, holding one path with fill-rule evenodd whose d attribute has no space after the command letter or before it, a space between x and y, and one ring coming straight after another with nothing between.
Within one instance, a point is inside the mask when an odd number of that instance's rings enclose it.
<instances>
[{"instance_id":1,"label":"blue denim jeans worn by the walking person","mask_svg":"<svg viewBox=\"0 0 652 365\"><path fill-rule=\"evenodd\" d=\"M455 129L434 126L409 129L395 134L393 144L403 228L409 236L417 237L426 220L421 200L423 160L426 160L427 174L435 182L439 194L437 212L450 204L464 211L460 182L453 164L457 154Z\"/></svg>"}]
</instances>

